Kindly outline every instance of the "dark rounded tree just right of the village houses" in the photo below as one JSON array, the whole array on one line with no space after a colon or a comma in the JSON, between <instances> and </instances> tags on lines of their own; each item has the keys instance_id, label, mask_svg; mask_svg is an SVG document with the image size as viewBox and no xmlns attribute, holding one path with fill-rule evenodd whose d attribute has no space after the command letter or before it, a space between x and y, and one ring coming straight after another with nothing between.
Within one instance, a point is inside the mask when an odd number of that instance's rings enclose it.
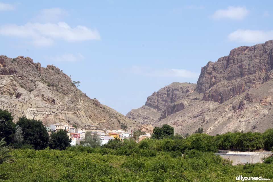
<instances>
[{"instance_id":1,"label":"dark rounded tree just right of the village houses","mask_svg":"<svg viewBox=\"0 0 273 182\"><path fill-rule=\"evenodd\" d=\"M173 138L174 129L170 125L163 125L160 127L155 127L153 130L152 138L162 139L162 138Z\"/></svg>"}]
</instances>

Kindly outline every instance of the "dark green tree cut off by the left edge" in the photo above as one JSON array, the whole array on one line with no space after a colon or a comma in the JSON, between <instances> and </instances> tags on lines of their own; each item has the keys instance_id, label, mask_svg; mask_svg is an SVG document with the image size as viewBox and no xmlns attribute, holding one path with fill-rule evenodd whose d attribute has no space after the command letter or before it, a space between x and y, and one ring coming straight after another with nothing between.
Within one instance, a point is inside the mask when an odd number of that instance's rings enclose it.
<instances>
[{"instance_id":1,"label":"dark green tree cut off by the left edge","mask_svg":"<svg viewBox=\"0 0 273 182\"><path fill-rule=\"evenodd\" d=\"M5 141L9 145L13 141L14 133L15 124L11 113L0 109L0 138L5 137Z\"/></svg>"}]
</instances>

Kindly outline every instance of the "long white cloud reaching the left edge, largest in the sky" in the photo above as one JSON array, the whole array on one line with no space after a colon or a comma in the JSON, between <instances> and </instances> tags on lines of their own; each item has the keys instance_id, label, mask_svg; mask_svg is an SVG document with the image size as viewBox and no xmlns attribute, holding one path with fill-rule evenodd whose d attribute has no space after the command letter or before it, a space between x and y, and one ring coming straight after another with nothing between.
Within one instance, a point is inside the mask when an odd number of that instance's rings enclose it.
<instances>
[{"instance_id":1,"label":"long white cloud reaching the left edge, largest in the sky","mask_svg":"<svg viewBox=\"0 0 273 182\"><path fill-rule=\"evenodd\" d=\"M100 39L100 34L97 30L90 30L81 25L71 28L65 22L45 24L28 22L22 26L9 24L0 26L0 35L30 38L30 42L34 46L50 46L53 44L53 40L80 42Z\"/></svg>"}]
</instances>

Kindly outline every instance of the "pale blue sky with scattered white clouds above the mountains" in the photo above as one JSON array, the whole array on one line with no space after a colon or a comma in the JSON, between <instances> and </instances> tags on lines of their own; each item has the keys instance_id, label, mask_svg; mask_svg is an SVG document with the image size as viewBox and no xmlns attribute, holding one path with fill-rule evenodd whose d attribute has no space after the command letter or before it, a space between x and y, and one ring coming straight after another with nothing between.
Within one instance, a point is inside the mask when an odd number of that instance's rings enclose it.
<instances>
[{"instance_id":1,"label":"pale blue sky with scattered white clouds above the mountains","mask_svg":"<svg viewBox=\"0 0 273 182\"><path fill-rule=\"evenodd\" d=\"M0 1L0 54L55 65L126 114L238 46L273 39L272 1Z\"/></svg>"}]
</instances>

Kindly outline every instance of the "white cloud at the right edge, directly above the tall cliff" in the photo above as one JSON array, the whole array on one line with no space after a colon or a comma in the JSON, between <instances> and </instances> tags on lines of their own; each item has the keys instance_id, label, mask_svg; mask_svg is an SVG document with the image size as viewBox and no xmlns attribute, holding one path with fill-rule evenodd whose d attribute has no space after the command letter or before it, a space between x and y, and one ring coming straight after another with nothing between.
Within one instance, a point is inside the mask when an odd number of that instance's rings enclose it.
<instances>
[{"instance_id":1,"label":"white cloud at the right edge, directly above the tall cliff","mask_svg":"<svg viewBox=\"0 0 273 182\"><path fill-rule=\"evenodd\" d=\"M273 30L236 30L228 35L229 40L247 43L259 43L273 39Z\"/></svg>"}]
</instances>

